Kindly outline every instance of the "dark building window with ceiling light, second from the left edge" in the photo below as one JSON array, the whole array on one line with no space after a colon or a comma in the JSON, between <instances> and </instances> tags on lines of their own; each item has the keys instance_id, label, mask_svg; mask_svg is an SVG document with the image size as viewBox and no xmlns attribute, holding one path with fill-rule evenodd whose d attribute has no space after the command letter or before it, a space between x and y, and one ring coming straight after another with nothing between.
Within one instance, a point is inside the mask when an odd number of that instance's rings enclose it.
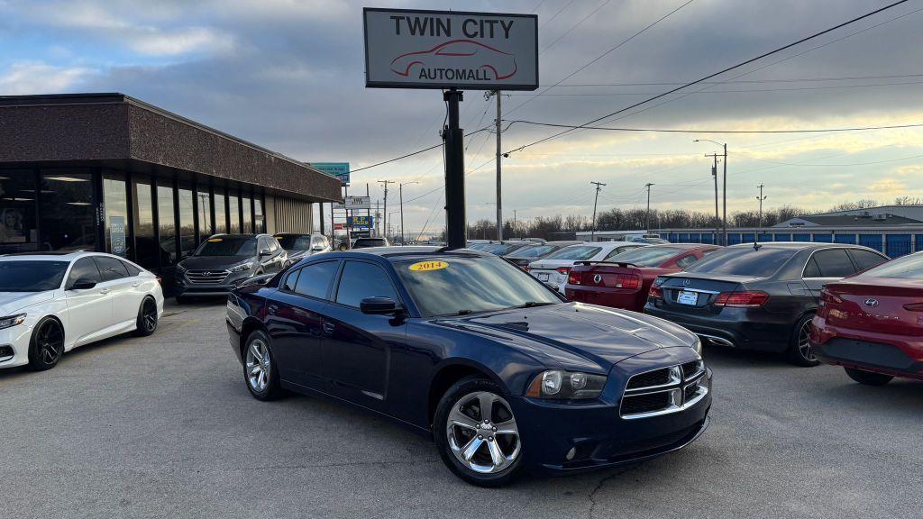
<instances>
[{"instance_id":1,"label":"dark building window with ceiling light, second from the left edge","mask_svg":"<svg viewBox=\"0 0 923 519\"><path fill-rule=\"evenodd\" d=\"M92 175L87 170L45 169L40 187L42 249L95 250Z\"/></svg>"}]
</instances>

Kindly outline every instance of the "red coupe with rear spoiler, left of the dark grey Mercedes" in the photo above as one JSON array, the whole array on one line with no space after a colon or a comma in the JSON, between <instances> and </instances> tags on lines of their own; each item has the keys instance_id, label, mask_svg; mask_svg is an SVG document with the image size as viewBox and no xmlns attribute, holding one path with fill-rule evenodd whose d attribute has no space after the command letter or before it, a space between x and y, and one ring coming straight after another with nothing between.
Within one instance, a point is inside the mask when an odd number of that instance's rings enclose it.
<instances>
[{"instance_id":1,"label":"red coupe with rear spoiler, left of the dark grey Mercedes","mask_svg":"<svg viewBox=\"0 0 923 519\"><path fill-rule=\"evenodd\" d=\"M657 276L680 272L719 248L682 243L652 245L605 261L578 261L570 269L564 295L570 301L640 312Z\"/></svg>"}]
</instances>

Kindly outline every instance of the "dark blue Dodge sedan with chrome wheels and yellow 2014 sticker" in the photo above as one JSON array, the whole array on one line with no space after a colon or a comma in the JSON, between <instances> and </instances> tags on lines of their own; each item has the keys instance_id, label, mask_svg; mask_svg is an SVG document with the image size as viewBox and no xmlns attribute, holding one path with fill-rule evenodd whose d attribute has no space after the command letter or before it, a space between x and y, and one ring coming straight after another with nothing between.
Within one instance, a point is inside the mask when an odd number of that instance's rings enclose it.
<instances>
[{"instance_id":1,"label":"dark blue Dodge sedan with chrome wheels and yellow 2014 sticker","mask_svg":"<svg viewBox=\"0 0 923 519\"><path fill-rule=\"evenodd\" d=\"M430 435L479 486L635 463L708 425L712 374L694 334L568 303L470 249L311 257L235 290L227 308L254 397L303 392L386 416Z\"/></svg>"}]
</instances>

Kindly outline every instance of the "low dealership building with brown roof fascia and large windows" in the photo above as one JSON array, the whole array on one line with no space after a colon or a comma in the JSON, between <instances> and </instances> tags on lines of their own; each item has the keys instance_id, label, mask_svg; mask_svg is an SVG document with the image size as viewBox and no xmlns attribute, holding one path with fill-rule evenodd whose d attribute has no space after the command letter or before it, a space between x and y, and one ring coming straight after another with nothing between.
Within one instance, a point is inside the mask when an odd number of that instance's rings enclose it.
<instances>
[{"instance_id":1,"label":"low dealership building with brown roof fascia and large windows","mask_svg":"<svg viewBox=\"0 0 923 519\"><path fill-rule=\"evenodd\" d=\"M338 178L120 93L0 97L0 253L97 250L169 275L218 233L311 232Z\"/></svg>"}]
</instances>

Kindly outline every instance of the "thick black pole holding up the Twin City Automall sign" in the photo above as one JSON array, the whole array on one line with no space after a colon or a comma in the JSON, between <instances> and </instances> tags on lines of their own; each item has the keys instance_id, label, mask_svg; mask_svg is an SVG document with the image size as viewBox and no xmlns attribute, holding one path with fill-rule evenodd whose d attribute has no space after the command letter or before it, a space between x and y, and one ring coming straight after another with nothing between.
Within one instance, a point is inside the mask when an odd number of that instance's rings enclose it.
<instances>
[{"instance_id":1,"label":"thick black pole holding up the Twin City Automall sign","mask_svg":"<svg viewBox=\"0 0 923 519\"><path fill-rule=\"evenodd\" d=\"M449 105L449 127L442 133L446 146L446 241L449 248L464 248L464 130L459 127L459 102L462 91L442 93Z\"/></svg>"}]
</instances>

